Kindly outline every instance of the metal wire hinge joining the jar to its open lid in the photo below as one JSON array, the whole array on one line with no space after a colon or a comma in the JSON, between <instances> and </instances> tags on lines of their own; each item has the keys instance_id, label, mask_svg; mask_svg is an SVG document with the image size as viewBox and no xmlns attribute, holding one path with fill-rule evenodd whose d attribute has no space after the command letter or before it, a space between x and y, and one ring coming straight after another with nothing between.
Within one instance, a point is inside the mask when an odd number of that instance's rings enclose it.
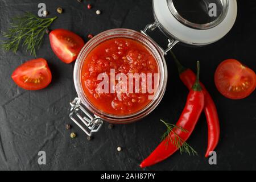
<instances>
[{"instance_id":1,"label":"metal wire hinge joining the jar to its open lid","mask_svg":"<svg viewBox=\"0 0 256 182\"><path fill-rule=\"evenodd\" d=\"M143 35L146 35L148 38L151 38L146 32L152 32L155 30L155 28L157 28L159 26L158 22L154 22L154 23L150 23L147 24L147 26L144 28L144 30L141 30L141 33ZM155 42L155 41L154 41ZM166 49L163 49L161 46L159 46L158 43L155 42L156 46L158 46L160 48L160 50L162 51L163 55L167 55L167 53L172 49L172 47L174 47L177 43L179 43L179 40L175 40L175 39L168 39L168 45Z\"/></svg>"}]
</instances>

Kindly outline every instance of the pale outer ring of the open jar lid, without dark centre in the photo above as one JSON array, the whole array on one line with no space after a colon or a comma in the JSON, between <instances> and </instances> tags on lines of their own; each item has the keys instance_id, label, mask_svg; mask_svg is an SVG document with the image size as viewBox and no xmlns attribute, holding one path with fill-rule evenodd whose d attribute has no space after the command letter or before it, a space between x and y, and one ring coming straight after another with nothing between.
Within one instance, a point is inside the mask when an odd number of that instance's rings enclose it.
<instances>
[{"instance_id":1,"label":"pale outer ring of the open jar lid, without dark centre","mask_svg":"<svg viewBox=\"0 0 256 182\"><path fill-rule=\"evenodd\" d=\"M208 29L191 28L182 20L178 20L177 15L171 12L170 2L172 0L152 1L155 23L158 24L159 29L168 38L192 46L205 46L217 42L228 34L237 18L237 1L228 1L224 13L220 19L216 19L218 22L212 22L214 26Z\"/></svg>"}]
</instances>

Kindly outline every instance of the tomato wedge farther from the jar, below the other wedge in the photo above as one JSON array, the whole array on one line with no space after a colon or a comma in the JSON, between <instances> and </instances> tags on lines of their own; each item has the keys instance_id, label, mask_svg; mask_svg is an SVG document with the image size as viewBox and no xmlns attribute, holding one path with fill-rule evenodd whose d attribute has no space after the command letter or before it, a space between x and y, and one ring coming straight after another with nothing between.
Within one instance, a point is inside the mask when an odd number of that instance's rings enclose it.
<instances>
[{"instance_id":1,"label":"tomato wedge farther from the jar, below the other wedge","mask_svg":"<svg viewBox=\"0 0 256 182\"><path fill-rule=\"evenodd\" d=\"M33 59L19 65L11 75L13 81L26 90L46 88L52 81L52 73L45 59Z\"/></svg>"}]
</instances>

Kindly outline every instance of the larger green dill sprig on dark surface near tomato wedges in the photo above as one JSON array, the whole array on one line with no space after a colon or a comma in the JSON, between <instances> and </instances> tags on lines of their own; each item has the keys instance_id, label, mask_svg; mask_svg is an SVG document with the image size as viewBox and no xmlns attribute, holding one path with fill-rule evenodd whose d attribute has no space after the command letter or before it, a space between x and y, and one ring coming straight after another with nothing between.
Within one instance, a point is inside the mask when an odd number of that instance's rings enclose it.
<instances>
[{"instance_id":1,"label":"larger green dill sprig on dark surface near tomato wedges","mask_svg":"<svg viewBox=\"0 0 256 182\"><path fill-rule=\"evenodd\" d=\"M40 48L47 28L56 18L57 16L39 18L28 12L24 16L14 18L7 32L2 32L7 40L3 41L1 47L16 53L21 44L30 55L36 56L36 50Z\"/></svg>"}]
</instances>

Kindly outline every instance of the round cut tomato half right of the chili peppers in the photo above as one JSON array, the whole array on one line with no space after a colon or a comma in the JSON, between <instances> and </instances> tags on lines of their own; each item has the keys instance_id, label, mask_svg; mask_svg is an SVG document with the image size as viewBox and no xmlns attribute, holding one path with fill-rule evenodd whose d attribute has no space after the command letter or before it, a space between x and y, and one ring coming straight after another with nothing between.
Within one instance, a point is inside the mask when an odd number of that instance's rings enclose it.
<instances>
[{"instance_id":1,"label":"round cut tomato half right of the chili peppers","mask_svg":"<svg viewBox=\"0 0 256 182\"><path fill-rule=\"evenodd\" d=\"M238 60L228 59L218 65L214 81L222 95L237 100L249 96L255 90L256 75Z\"/></svg>"}]
</instances>

